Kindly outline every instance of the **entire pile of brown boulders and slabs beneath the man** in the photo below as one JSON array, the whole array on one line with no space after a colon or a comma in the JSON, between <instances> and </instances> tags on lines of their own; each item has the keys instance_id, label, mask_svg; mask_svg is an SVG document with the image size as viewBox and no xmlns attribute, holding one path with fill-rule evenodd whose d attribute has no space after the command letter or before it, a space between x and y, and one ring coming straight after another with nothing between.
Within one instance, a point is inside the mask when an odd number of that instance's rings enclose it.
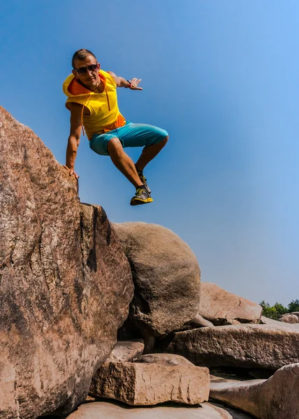
<instances>
[{"instance_id":1,"label":"entire pile of brown boulders and slabs beneath the man","mask_svg":"<svg viewBox=\"0 0 299 419\"><path fill-rule=\"evenodd\" d=\"M299 419L298 313L265 318L172 231L80 203L3 108L0 205L0 419Z\"/></svg>"}]
</instances>

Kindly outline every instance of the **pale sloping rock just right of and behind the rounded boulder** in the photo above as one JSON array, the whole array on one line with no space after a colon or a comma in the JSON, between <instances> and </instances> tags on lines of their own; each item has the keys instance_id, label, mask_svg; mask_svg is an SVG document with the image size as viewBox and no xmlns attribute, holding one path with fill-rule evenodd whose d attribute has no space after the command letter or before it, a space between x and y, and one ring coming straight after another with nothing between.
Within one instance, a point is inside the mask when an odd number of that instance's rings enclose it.
<instances>
[{"instance_id":1,"label":"pale sloping rock just right of and behind the rounded boulder","mask_svg":"<svg viewBox=\"0 0 299 419\"><path fill-rule=\"evenodd\" d=\"M260 305L228 293L216 284L202 282L198 313L214 325L259 323L263 309Z\"/></svg>"}]
</instances>

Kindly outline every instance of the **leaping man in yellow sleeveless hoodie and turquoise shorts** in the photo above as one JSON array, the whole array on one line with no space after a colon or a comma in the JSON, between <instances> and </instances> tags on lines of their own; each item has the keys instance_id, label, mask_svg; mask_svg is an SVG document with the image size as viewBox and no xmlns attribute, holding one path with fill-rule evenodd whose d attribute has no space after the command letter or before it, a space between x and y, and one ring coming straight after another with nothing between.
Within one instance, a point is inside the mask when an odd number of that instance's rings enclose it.
<instances>
[{"instance_id":1,"label":"leaping man in yellow sleeveless hoodie and turquoise shorts","mask_svg":"<svg viewBox=\"0 0 299 419\"><path fill-rule=\"evenodd\" d=\"M78 50L72 59L73 71L66 78L63 90L68 97L66 108L71 111L71 132L66 149L66 168L78 179L74 170L75 157L84 128L89 147L103 156L110 156L127 179L136 187L131 205L152 202L151 191L143 169L168 141L168 133L156 126L126 121L117 105L117 87L142 90L140 79L125 80L114 73L100 70L100 64L89 50ZM84 128L83 128L84 126ZM124 147L144 146L136 162Z\"/></svg>"}]
</instances>

